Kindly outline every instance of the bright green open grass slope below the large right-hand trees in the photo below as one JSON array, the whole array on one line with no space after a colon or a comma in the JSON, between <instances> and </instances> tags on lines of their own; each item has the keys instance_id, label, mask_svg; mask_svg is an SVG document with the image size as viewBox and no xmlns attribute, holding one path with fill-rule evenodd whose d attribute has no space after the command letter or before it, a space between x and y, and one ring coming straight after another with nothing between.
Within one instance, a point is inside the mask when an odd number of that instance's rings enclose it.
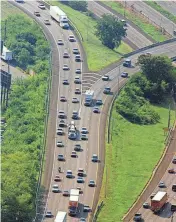
<instances>
[{"instance_id":1,"label":"bright green open grass slope below the large right-hand trees","mask_svg":"<svg viewBox=\"0 0 176 222\"><path fill-rule=\"evenodd\" d=\"M106 168L100 200L104 201L98 222L120 222L149 180L164 150L163 127L168 109L152 106L160 115L156 125L136 125L113 107L112 142L106 146ZM172 112L172 123L174 113ZM105 198L106 195L106 198Z\"/></svg>"}]
</instances>

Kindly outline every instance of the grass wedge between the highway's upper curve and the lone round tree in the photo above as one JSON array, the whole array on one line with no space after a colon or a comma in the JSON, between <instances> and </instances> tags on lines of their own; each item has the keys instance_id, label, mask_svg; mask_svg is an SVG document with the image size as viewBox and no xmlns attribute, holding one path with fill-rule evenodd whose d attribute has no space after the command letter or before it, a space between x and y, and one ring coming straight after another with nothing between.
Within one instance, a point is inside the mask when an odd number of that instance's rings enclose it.
<instances>
[{"instance_id":1,"label":"grass wedge between the highway's upper curve and the lone round tree","mask_svg":"<svg viewBox=\"0 0 176 222\"><path fill-rule=\"evenodd\" d=\"M82 44L87 55L87 63L90 71L101 70L119 60L121 54L126 54L132 51L132 49L124 42L122 42L120 47L114 51L108 49L102 45L101 41L94 34L96 20L59 2L48 2L52 5L59 6L81 33L83 37Z\"/></svg>"}]
</instances>

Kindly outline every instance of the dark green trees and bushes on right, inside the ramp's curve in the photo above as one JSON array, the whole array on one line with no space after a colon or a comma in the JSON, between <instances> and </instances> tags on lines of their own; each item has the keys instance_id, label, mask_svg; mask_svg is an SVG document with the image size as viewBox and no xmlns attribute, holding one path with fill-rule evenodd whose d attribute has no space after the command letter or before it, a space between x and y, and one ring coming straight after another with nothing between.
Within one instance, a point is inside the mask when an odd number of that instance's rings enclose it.
<instances>
[{"instance_id":1,"label":"dark green trees and bushes on right, inside the ramp's curve","mask_svg":"<svg viewBox=\"0 0 176 222\"><path fill-rule=\"evenodd\" d=\"M155 124L160 116L150 103L161 104L169 96L176 101L176 69L167 57L142 55L141 72L131 77L116 100L116 110L137 124Z\"/></svg>"}]
</instances>

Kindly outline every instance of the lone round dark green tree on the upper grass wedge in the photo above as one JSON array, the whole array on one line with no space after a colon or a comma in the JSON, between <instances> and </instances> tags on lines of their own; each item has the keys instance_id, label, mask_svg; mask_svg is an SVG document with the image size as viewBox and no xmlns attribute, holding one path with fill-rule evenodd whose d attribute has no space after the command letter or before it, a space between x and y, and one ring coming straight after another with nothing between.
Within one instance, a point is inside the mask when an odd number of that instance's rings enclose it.
<instances>
[{"instance_id":1,"label":"lone round dark green tree on the upper grass wedge","mask_svg":"<svg viewBox=\"0 0 176 222\"><path fill-rule=\"evenodd\" d=\"M98 20L96 33L102 44L110 49L118 47L122 37L126 36L126 30L123 23L117 17L109 14L104 14Z\"/></svg>"}]
</instances>

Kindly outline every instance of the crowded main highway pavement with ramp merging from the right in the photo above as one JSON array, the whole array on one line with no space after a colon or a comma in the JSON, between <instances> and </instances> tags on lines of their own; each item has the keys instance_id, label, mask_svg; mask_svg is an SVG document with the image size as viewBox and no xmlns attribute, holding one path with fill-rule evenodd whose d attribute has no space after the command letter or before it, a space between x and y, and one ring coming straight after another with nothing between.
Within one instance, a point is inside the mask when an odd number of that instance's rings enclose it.
<instances>
[{"instance_id":1,"label":"crowded main highway pavement with ramp merging from the right","mask_svg":"<svg viewBox=\"0 0 176 222\"><path fill-rule=\"evenodd\" d=\"M14 3L15 4L15 3ZM51 88L51 102L50 102L50 116L48 123L48 137L47 137L47 153L46 153L46 165L45 165L45 178L44 185L48 188L48 196L46 200L46 210L51 210L53 215L55 216L58 210L68 211L68 197L63 197L62 193L54 194L51 191L52 185L55 183L53 181L56 174L58 174L58 167L61 166L62 173L59 175L62 177L62 182L59 182L60 189L69 190L70 188L76 188L80 186L83 190L83 194L80 195L80 212L78 217L89 218L91 221L91 216L89 217L87 214L82 212L82 204L87 204L91 208L95 209L95 206L98 201L99 188L101 185L102 178L102 170L104 166L104 135L105 135L105 124L107 119L107 113L109 110L110 103L113 98L113 94L118 90L126 80L120 77L120 73L123 71L128 71L131 75L139 70L138 67L134 67L131 69L124 68L122 65L117 68L111 70L108 74L110 75L111 81L108 83L103 82L101 79L98 80L90 87L95 91L95 98L102 99L104 105L101 108L100 114L94 114L92 112L92 107L87 108L82 105L82 95L76 96L74 93L75 88L84 87L86 80L83 81L83 84L75 85L75 70L77 68L82 68L83 65L81 62L75 62L74 55L72 53L73 48L79 48L78 42L69 42L69 35L73 34L70 30L61 29L58 24L50 19L49 11L40 10L38 8L37 2L25 2L24 4L16 4L18 7L27 12L30 16L33 16L34 11L40 11L41 17L37 18L38 23L44 28L44 31L49 36L49 40L52 44L52 73L53 73L53 81ZM44 19L49 19L51 25L45 27L43 24ZM58 39L62 39L64 41L63 46L58 46ZM70 55L70 58L63 58L63 53L67 51ZM161 47L155 47L150 50L147 50L152 54L157 55L168 55L170 57L175 56L176 52L176 44L175 42L168 43L166 45L162 45ZM142 52L145 53L145 52ZM135 64L140 53L131 56L132 63ZM63 71L63 65L67 64L70 68L68 71ZM84 71L84 70L83 70ZM83 77L82 77L83 76ZM100 77L100 75L98 75ZM84 73L80 75L81 78L84 78ZM90 78L94 77L92 73ZM69 85L65 86L62 84L64 79L69 80ZM119 79L119 81L117 81ZM104 95L103 89L105 86L109 86L112 89L112 95ZM67 101L60 102L60 96L65 96ZM72 98L77 97L79 99L78 104L72 103ZM58 111L63 110L67 115L66 123L71 121L71 115L73 110L79 111L80 119L75 120L76 126L78 129L81 127L87 127L88 141L71 141L67 137L67 128L64 129L64 136L57 136L56 129L58 127ZM56 143L58 140L61 140L64 143L63 148L58 148ZM73 151L73 147L75 143L81 144L83 151L77 153L77 158L71 158L70 154ZM92 154L98 154L100 158L100 163L92 163L91 157ZM63 154L65 157L65 162L60 163L57 160L57 155ZM86 171L87 176L85 177L85 183L78 185L76 182L77 170L78 168L83 168ZM65 172L67 170L72 170L74 179L67 179L65 177ZM88 187L88 181L93 179L96 181L97 186L95 188ZM88 219L88 220L89 220ZM45 219L46 220L46 219ZM54 221L54 219L49 219L46 221ZM68 221L72 221L69 218Z\"/></svg>"}]
</instances>

